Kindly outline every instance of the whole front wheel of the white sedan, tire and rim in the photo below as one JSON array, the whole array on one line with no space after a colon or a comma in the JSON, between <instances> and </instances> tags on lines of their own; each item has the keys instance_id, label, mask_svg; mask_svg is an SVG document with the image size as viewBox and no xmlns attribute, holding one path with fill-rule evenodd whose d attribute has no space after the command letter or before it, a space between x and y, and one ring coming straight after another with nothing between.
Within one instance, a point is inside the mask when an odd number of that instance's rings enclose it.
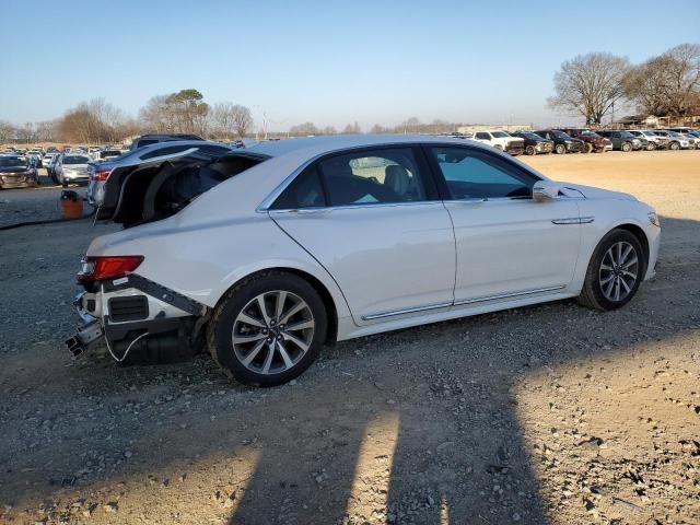
<instances>
[{"instance_id":1,"label":"whole front wheel of the white sedan, tire and rim","mask_svg":"<svg viewBox=\"0 0 700 525\"><path fill-rule=\"evenodd\" d=\"M608 311L626 305L637 293L646 271L639 240L627 230L612 230L593 253L579 303Z\"/></svg>"}]
</instances>

